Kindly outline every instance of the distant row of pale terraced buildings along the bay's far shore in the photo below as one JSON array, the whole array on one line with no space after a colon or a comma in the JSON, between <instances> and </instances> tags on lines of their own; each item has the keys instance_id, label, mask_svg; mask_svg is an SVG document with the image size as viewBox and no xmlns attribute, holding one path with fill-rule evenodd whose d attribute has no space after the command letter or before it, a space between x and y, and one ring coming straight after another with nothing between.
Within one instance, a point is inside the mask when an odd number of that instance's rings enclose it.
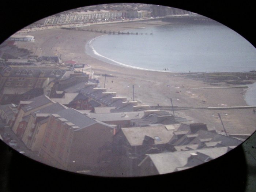
<instances>
[{"instance_id":1,"label":"distant row of pale terraced buildings along the bay's far shore","mask_svg":"<svg viewBox=\"0 0 256 192\"><path fill-rule=\"evenodd\" d=\"M190 14L191 12L180 10L177 8L164 7L159 5L98 5L98 7L89 9L78 9L60 14L49 16L41 23L44 25L54 24L70 24L70 23L87 23L95 21L111 21L115 19L134 19L134 18L150 18L151 16L166 16L177 14Z\"/></svg>"}]
</instances>

